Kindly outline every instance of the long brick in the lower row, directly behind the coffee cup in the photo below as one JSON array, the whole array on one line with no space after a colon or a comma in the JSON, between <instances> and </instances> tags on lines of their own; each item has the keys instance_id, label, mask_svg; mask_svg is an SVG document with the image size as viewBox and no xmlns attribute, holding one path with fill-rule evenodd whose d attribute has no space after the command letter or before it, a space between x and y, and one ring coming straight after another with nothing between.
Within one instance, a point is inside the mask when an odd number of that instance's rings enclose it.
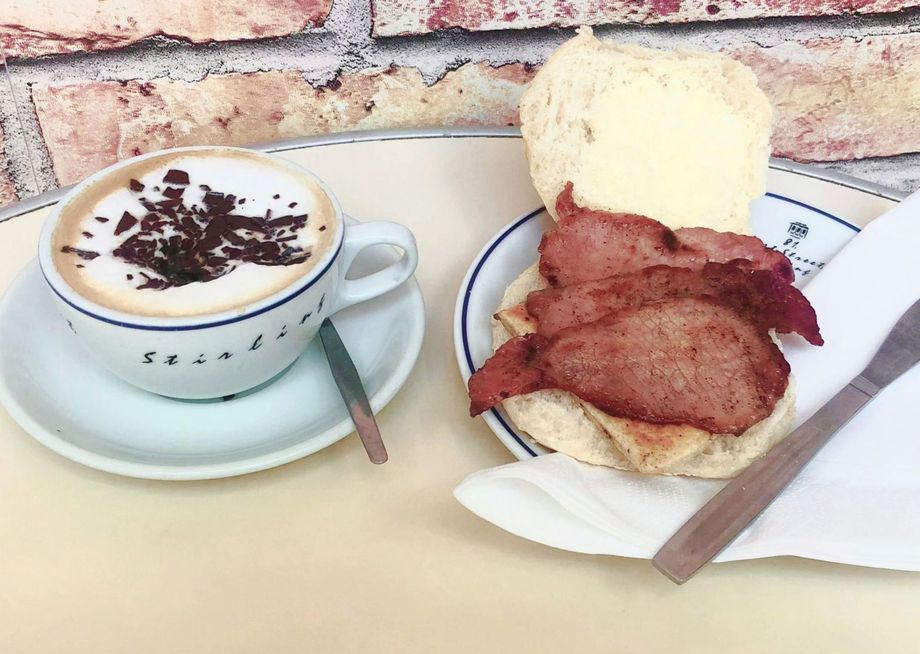
<instances>
[{"instance_id":1,"label":"long brick in the lower row, directly behind the coffee cup","mask_svg":"<svg viewBox=\"0 0 920 654\"><path fill-rule=\"evenodd\" d=\"M160 148L247 145L348 129L511 125L532 71L467 64L426 85L415 68L342 74L315 88L297 71L197 82L83 82L32 89L58 181Z\"/></svg>"}]
</instances>

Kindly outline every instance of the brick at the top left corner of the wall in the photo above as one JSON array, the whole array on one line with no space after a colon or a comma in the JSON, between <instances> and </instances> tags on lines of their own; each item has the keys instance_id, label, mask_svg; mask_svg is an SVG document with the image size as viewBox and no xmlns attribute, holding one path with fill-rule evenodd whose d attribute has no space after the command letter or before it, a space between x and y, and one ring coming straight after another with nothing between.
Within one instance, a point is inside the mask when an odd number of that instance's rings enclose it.
<instances>
[{"instance_id":1,"label":"brick at the top left corner of the wall","mask_svg":"<svg viewBox=\"0 0 920 654\"><path fill-rule=\"evenodd\" d=\"M150 36L193 43L282 36L322 25L332 0L3 0L7 58L110 50Z\"/></svg>"}]
</instances>

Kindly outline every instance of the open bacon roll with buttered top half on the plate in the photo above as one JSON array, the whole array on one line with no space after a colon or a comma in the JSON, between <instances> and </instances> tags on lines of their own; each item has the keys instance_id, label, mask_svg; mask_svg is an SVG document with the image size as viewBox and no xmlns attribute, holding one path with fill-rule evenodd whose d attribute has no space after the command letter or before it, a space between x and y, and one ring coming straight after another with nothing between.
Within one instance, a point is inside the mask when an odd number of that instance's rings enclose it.
<instances>
[{"instance_id":1,"label":"open bacon roll with buttered top half on the plate","mask_svg":"<svg viewBox=\"0 0 920 654\"><path fill-rule=\"evenodd\" d=\"M748 205L764 190L769 134L769 105L753 74L720 55L656 52L599 44L581 31L525 95L522 131L531 173L541 195L556 193L547 206L558 224L544 234L539 262L508 287L498 307L495 354L469 380L470 413L501 405L534 440L588 463L731 477L791 429L794 382L778 335L813 345L823 340L814 310L792 285L789 260L747 235ZM587 81L572 82L592 66ZM560 79L566 71L569 77ZM702 96L694 80L706 86ZM683 121L657 115L680 114L679 102L648 105L642 118L630 99L632 113L618 113L614 100L624 84L652 99L684 98L696 109L709 102L720 124L745 123L747 131L732 132L720 143L725 151L715 155L744 175L726 187L724 178L691 174L701 199L682 212L684 196L638 176L664 171L660 179L676 179L688 162L673 148L627 148L631 170L614 168L636 188L599 188L612 170L604 162L616 156L606 149L610 144L641 139L662 122L679 143L698 140L699 134L687 136L694 131L715 138L706 134L709 123L694 122L694 111ZM654 90L656 84L673 88ZM573 91L579 85L601 98L606 114L589 107L575 120L573 105L590 105L584 88ZM560 90L568 95L553 95ZM738 94L745 92L742 110ZM752 115L759 117L752 121ZM631 123L616 121L630 117ZM607 145L592 154L603 139ZM546 149L552 142L564 144L568 165L546 164L559 156ZM706 164L712 153L702 158ZM722 169L706 165L710 172ZM560 179L567 172L574 183ZM621 181L611 186L620 189ZM677 199L651 197L668 195ZM663 217L642 215L653 210Z\"/></svg>"}]
</instances>

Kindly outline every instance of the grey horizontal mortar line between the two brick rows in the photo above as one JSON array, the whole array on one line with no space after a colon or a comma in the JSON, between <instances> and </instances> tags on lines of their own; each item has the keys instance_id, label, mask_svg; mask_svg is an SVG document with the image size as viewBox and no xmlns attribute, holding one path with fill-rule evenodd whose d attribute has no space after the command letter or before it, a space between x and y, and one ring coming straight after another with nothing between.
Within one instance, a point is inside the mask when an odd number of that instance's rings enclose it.
<instances>
[{"instance_id":1,"label":"grey horizontal mortar line between the two brick rows","mask_svg":"<svg viewBox=\"0 0 920 654\"><path fill-rule=\"evenodd\" d=\"M363 3L360 3L363 6ZM336 6L338 5L338 7ZM166 78L187 79L181 76L183 70L195 70L202 74L224 74L230 72L256 72L277 70L279 64L272 59L282 59L284 54L294 54L295 66L309 67L311 57L322 55L338 60L340 70L357 72L361 67L386 66L396 63L400 66L416 65L423 70L426 82L433 83L451 68L452 61L488 60L495 64L521 61L537 63L545 58L545 42L564 40L574 28L538 27L504 31L470 32L447 30L422 35L380 37L370 35L370 13L366 15L344 15L353 5L336 2L325 23L323 32L300 32L265 40L246 40L189 44L164 37L144 40L126 48L99 52L80 52L51 55L42 58L23 58L13 63L20 75L35 81L46 81L49 77L65 77L76 80L79 67L90 65L97 69L95 79L148 79L144 68L146 56L155 56L157 51L174 56L192 66L173 66L164 71ZM338 9L338 11L337 11ZM346 20L347 19L347 20ZM356 24L357 23L357 24ZM366 30L361 29L367 23ZM357 29L356 29L357 28ZM834 36L861 40L872 36L887 36L916 33L920 29L920 9L907 9L895 14L866 15L853 19L848 16L819 16L799 19L795 17L773 17L769 19L738 19L722 22L607 24L595 26L595 31L604 38L619 38L629 41L652 41L659 45L659 39L677 38L686 45L699 45L699 40L721 36L728 41L735 37L740 42L749 42L760 47L770 47L786 41L809 40ZM790 33L784 33L789 29ZM366 33L365 33L366 32ZM764 35L778 33L780 40L773 43ZM330 43L331 41L331 43ZM434 47L432 47L434 46ZM219 62L209 62L215 48L224 47L224 56ZM298 52L296 48L305 48ZM524 49L522 52L521 49ZM425 52L431 49L432 52ZM277 52L275 51L277 50ZM261 57L255 65L248 51ZM413 62L413 59L421 61ZM437 62L437 72L432 74L425 66L425 59ZM281 67L283 63L280 64ZM328 68L324 66L323 68ZM44 70L42 70L44 69ZM200 70L199 70L200 69ZM217 69L217 70L214 70ZM427 72L426 72L427 71ZM178 76L174 76L178 72ZM335 72L335 71L333 71ZM71 74L68 74L71 73ZM86 79L85 77L83 79ZM189 78L190 79L190 78Z\"/></svg>"}]
</instances>

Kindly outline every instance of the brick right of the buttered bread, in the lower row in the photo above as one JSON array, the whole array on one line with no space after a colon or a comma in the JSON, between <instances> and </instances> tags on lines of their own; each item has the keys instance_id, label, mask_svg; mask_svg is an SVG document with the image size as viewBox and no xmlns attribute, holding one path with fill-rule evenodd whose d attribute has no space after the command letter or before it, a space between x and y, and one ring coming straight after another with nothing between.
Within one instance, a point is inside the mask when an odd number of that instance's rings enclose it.
<instances>
[{"instance_id":1,"label":"brick right of the buttered bread, in the lower row","mask_svg":"<svg viewBox=\"0 0 920 654\"><path fill-rule=\"evenodd\" d=\"M748 45L728 54L754 69L776 109L777 156L842 161L920 151L920 35Z\"/></svg>"}]
</instances>

